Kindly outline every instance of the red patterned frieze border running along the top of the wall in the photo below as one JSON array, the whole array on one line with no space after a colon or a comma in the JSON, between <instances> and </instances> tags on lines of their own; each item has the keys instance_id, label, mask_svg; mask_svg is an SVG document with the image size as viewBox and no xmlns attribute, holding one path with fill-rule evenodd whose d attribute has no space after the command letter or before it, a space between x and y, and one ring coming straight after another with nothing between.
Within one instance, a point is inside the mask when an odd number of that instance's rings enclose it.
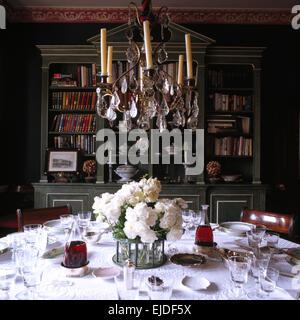
<instances>
[{"instance_id":1,"label":"red patterned frieze border running along the top of the wall","mask_svg":"<svg viewBox=\"0 0 300 320\"><path fill-rule=\"evenodd\" d=\"M289 9L169 8L168 12L178 24L288 25L293 16ZM8 7L7 18L11 23L126 23L128 9Z\"/></svg>"}]
</instances>

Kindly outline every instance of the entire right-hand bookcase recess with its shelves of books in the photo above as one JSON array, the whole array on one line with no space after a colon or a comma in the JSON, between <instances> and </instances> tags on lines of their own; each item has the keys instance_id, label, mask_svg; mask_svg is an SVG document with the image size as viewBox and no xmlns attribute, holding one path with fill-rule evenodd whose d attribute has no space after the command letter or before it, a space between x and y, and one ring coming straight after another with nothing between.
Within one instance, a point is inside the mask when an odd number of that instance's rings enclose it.
<instances>
[{"instance_id":1,"label":"entire right-hand bookcase recess with its shelves of books","mask_svg":"<svg viewBox=\"0 0 300 320\"><path fill-rule=\"evenodd\" d=\"M211 59L207 64L205 163L218 161L222 174L241 174L247 182L255 181L259 172L257 81L256 72L247 61L215 63Z\"/></svg>"}]
</instances>

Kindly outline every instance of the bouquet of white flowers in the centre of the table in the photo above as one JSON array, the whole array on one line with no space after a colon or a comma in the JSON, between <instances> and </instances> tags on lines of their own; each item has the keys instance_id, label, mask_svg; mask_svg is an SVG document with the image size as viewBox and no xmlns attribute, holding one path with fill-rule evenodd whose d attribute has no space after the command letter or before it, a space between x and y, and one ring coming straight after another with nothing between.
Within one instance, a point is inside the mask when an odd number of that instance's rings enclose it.
<instances>
[{"instance_id":1,"label":"bouquet of white flowers in the centre of the table","mask_svg":"<svg viewBox=\"0 0 300 320\"><path fill-rule=\"evenodd\" d=\"M109 224L116 240L178 240L183 234L181 211L187 204L181 198L158 199L160 191L156 178L129 182L115 194L95 197L94 214L97 221Z\"/></svg>"}]
</instances>

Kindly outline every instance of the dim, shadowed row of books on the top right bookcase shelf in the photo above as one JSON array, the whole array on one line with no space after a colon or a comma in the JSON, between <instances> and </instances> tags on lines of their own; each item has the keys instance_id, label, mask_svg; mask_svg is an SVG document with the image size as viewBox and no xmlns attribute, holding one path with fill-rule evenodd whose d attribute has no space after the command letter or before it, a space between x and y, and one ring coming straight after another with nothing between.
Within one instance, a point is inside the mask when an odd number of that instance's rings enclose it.
<instances>
[{"instance_id":1,"label":"dim, shadowed row of books on the top right bookcase shelf","mask_svg":"<svg viewBox=\"0 0 300 320\"><path fill-rule=\"evenodd\" d=\"M250 88L252 73L246 70L208 70L208 86L210 88Z\"/></svg>"}]
</instances>

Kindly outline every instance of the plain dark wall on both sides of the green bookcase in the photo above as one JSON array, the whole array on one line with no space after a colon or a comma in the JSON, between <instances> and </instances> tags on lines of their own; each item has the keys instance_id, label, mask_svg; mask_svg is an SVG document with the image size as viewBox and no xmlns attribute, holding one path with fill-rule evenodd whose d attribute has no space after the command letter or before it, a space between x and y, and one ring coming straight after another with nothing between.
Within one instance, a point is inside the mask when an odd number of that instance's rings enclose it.
<instances>
[{"instance_id":1,"label":"plain dark wall on both sides of the green bookcase","mask_svg":"<svg viewBox=\"0 0 300 320\"><path fill-rule=\"evenodd\" d=\"M105 25L108 29L116 25ZM2 183L39 179L41 58L36 44L85 44L99 24L8 24L0 30ZM265 46L262 71L262 180L275 207L298 206L300 30L291 26L186 25L217 45ZM0 83L1 84L1 83ZM4 141L3 141L4 140ZM284 184L286 191L276 186ZM280 197L277 195L280 195ZM276 194L276 196L274 196ZM268 205L271 207L271 204Z\"/></svg>"}]
</instances>

